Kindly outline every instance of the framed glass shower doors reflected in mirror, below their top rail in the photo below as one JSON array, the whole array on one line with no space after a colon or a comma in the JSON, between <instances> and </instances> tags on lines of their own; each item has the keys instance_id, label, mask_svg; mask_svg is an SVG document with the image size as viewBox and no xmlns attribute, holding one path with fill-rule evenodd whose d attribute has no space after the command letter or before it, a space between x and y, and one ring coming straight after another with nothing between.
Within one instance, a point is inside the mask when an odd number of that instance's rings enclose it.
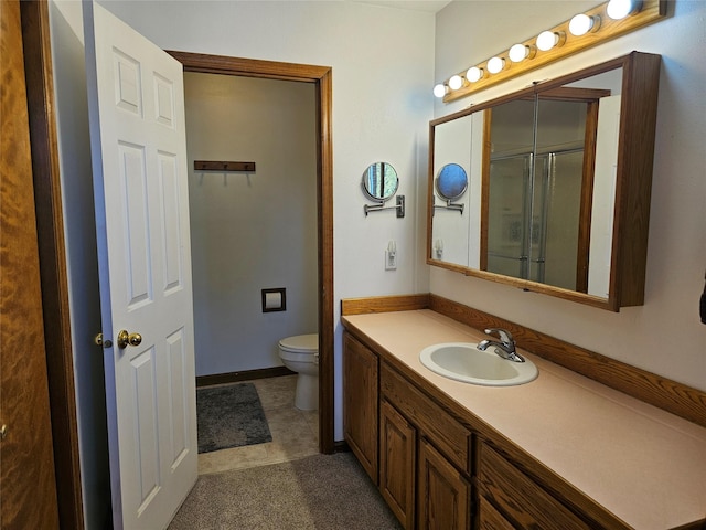
<instances>
[{"instance_id":1,"label":"framed glass shower doors reflected in mirror, below their top rail","mask_svg":"<svg viewBox=\"0 0 706 530\"><path fill-rule=\"evenodd\" d=\"M579 290L582 149L491 161L488 268L491 273Z\"/></svg>"}]
</instances>

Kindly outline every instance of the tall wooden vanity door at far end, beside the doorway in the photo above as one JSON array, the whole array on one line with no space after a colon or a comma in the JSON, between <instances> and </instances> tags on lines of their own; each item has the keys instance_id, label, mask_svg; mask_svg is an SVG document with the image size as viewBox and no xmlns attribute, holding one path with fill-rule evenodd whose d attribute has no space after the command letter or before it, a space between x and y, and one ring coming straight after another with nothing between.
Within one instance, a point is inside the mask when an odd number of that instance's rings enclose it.
<instances>
[{"instance_id":1,"label":"tall wooden vanity door at far end, beside the doorway","mask_svg":"<svg viewBox=\"0 0 706 530\"><path fill-rule=\"evenodd\" d=\"M343 435L377 484L377 356L343 336Z\"/></svg>"}]
</instances>

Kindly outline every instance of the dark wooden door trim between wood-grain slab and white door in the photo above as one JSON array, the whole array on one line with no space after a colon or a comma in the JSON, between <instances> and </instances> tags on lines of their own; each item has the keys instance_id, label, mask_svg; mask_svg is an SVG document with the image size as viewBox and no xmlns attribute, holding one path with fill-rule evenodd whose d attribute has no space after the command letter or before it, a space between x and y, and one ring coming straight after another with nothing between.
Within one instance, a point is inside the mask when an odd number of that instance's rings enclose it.
<instances>
[{"instance_id":1,"label":"dark wooden door trim between wood-grain slab and white door","mask_svg":"<svg viewBox=\"0 0 706 530\"><path fill-rule=\"evenodd\" d=\"M64 216L46 1L21 1L44 341L61 528L84 528Z\"/></svg>"}]
</instances>

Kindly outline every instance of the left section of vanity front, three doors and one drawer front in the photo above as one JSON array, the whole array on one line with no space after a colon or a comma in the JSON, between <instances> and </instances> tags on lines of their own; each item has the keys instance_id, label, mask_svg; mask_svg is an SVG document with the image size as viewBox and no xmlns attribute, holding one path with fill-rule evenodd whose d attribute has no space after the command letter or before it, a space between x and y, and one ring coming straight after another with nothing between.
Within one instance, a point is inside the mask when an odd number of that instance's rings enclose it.
<instances>
[{"instance_id":1,"label":"left section of vanity front, three doors and one drawer front","mask_svg":"<svg viewBox=\"0 0 706 530\"><path fill-rule=\"evenodd\" d=\"M470 431L347 331L343 432L404 528L470 529Z\"/></svg>"}]
</instances>

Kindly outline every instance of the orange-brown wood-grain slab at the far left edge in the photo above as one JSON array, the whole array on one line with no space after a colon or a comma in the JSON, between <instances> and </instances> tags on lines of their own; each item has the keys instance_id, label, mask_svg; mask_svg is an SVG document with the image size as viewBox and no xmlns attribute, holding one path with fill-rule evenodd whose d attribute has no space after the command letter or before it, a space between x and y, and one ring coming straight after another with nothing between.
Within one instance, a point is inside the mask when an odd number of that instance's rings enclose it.
<instances>
[{"instance_id":1,"label":"orange-brown wood-grain slab at the far left edge","mask_svg":"<svg viewBox=\"0 0 706 530\"><path fill-rule=\"evenodd\" d=\"M57 529L20 1L0 20L0 527Z\"/></svg>"}]
</instances>

